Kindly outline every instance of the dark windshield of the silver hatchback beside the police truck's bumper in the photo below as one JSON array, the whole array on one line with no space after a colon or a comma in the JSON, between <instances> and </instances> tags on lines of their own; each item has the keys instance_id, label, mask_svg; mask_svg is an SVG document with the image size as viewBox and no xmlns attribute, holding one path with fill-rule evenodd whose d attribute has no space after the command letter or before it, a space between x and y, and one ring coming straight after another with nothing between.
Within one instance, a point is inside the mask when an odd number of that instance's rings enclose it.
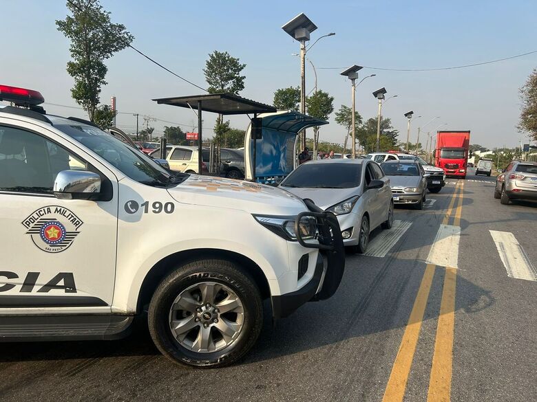
<instances>
[{"instance_id":1,"label":"dark windshield of the silver hatchback beside the police truck's bumper","mask_svg":"<svg viewBox=\"0 0 537 402\"><path fill-rule=\"evenodd\" d=\"M282 187L352 188L360 185L361 164L302 164L283 181Z\"/></svg>"}]
</instances>

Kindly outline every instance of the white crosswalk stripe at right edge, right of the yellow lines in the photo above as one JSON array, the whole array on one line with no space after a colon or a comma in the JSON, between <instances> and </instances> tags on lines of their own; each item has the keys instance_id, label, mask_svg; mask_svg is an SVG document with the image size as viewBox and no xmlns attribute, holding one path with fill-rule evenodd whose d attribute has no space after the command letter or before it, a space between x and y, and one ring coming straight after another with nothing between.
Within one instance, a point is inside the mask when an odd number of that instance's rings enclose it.
<instances>
[{"instance_id":1,"label":"white crosswalk stripe at right edge, right of the yellow lines","mask_svg":"<svg viewBox=\"0 0 537 402\"><path fill-rule=\"evenodd\" d=\"M537 281L537 271L511 232L489 230L510 278Z\"/></svg>"}]
</instances>

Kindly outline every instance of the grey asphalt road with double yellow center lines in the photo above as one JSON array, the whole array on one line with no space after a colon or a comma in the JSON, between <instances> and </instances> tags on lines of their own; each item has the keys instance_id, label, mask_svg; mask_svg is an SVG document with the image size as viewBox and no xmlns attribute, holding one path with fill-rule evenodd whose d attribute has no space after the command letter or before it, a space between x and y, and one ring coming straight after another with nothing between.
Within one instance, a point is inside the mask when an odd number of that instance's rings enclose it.
<instances>
[{"instance_id":1,"label":"grey asphalt road with double yellow center lines","mask_svg":"<svg viewBox=\"0 0 537 402\"><path fill-rule=\"evenodd\" d=\"M423 211L398 208L410 227L386 256L347 256L336 295L267 317L240 364L175 366L140 322L115 342L0 344L0 401L535 400L537 282L509 277L499 250L515 276L531 270L537 203L493 189L448 179Z\"/></svg>"}]
</instances>

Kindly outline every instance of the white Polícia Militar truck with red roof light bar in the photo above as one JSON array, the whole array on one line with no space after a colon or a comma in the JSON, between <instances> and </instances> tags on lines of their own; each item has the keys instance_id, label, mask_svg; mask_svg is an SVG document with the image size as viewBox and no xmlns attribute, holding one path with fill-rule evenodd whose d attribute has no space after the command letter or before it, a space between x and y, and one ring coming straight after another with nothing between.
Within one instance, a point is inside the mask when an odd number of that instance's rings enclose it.
<instances>
[{"instance_id":1,"label":"white Pol\u00edcia Militar truck with red roof light bar","mask_svg":"<svg viewBox=\"0 0 537 402\"><path fill-rule=\"evenodd\" d=\"M224 366L275 318L329 298L335 216L257 183L172 174L39 92L0 85L0 340L118 339L147 311L159 350Z\"/></svg>"}]
</instances>

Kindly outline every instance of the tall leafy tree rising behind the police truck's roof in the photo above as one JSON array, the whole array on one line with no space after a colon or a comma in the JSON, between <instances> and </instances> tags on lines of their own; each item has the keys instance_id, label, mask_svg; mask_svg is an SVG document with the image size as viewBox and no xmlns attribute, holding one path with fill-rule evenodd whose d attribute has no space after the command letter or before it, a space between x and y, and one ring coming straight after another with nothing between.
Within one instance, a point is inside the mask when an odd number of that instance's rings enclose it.
<instances>
[{"instance_id":1,"label":"tall leafy tree rising behind the police truck's roof","mask_svg":"<svg viewBox=\"0 0 537 402\"><path fill-rule=\"evenodd\" d=\"M134 36L125 25L112 23L110 13L98 0L67 1L67 8L72 16L56 21L56 25L71 40L72 60L67 62L67 73L74 78L71 94L93 122L101 87L107 84L108 68L103 62L128 47Z\"/></svg>"}]
</instances>

